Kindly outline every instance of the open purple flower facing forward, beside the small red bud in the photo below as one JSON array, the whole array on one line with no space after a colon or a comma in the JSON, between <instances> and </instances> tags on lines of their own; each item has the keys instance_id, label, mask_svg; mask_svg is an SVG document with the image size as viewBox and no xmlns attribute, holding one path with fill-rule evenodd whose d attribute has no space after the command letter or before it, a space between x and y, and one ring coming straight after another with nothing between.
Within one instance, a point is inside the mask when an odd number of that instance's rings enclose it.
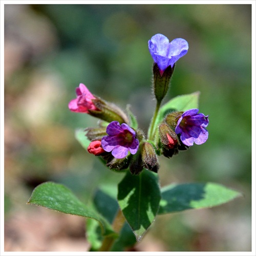
<instances>
[{"instance_id":1,"label":"open purple flower facing forward, beside the small red bud","mask_svg":"<svg viewBox=\"0 0 256 256\"><path fill-rule=\"evenodd\" d=\"M130 151L134 155L139 148L139 140L135 131L126 123L111 122L106 127L107 136L101 139L101 146L106 152L111 152L115 158L124 158Z\"/></svg>"}]
</instances>

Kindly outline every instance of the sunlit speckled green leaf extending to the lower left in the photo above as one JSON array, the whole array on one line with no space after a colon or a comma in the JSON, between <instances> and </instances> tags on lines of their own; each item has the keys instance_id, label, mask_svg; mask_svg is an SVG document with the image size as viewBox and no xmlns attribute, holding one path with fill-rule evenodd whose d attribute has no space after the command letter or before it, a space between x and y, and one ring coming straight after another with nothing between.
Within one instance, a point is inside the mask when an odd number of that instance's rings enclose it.
<instances>
[{"instance_id":1,"label":"sunlit speckled green leaf extending to the lower left","mask_svg":"<svg viewBox=\"0 0 256 256\"><path fill-rule=\"evenodd\" d=\"M28 204L46 207L65 214L78 215L97 220L104 236L116 235L107 220L92 207L84 205L67 187L54 182L45 182L37 186Z\"/></svg>"}]
</instances>

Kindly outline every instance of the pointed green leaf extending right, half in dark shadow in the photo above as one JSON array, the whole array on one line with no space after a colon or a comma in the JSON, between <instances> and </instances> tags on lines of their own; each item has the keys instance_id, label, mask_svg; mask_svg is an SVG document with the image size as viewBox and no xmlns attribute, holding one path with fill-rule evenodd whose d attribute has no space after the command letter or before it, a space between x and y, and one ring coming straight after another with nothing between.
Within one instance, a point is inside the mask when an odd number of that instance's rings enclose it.
<instances>
[{"instance_id":1,"label":"pointed green leaf extending right, half in dark shadow","mask_svg":"<svg viewBox=\"0 0 256 256\"><path fill-rule=\"evenodd\" d=\"M169 185L161 193L158 214L213 207L241 196L236 190L210 182Z\"/></svg>"}]
</instances>

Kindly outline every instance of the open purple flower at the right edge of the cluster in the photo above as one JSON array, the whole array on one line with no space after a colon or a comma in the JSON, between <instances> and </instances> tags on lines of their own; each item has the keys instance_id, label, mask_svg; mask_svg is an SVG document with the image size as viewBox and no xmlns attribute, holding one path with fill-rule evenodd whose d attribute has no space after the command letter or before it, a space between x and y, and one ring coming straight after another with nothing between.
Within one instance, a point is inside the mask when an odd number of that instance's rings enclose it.
<instances>
[{"instance_id":1,"label":"open purple flower at the right edge of the cluster","mask_svg":"<svg viewBox=\"0 0 256 256\"><path fill-rule=\"evenodd\" d=\"M203 144L208 139L208 116L198 114L198 109L185 111L177 122L175 132L180 135L183 144L192 146L194 142L198 145Z\"/></svg>"}]
</instances>

